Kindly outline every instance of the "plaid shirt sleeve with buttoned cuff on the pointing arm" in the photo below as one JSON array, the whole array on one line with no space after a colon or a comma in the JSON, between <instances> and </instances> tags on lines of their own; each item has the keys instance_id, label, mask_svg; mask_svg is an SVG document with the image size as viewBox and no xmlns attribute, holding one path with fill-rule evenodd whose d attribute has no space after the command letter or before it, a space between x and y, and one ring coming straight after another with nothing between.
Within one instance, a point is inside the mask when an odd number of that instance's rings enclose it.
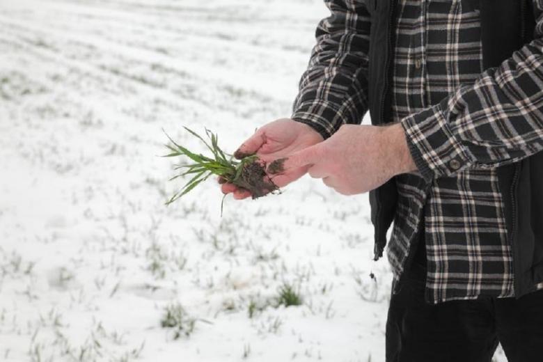
<instances>
[{"instance_id":1,"label":"plaid shirt sleeve with buttoned cuff on the pointing arm","mask_svg":"<svg viewBox=\"0 0 543 362\"><path fill-rule=\"evenodd\" d=\"M400 121L425 180L519 162L543 150L543 0L533 3L533 41L473 84Z\"/></svg>"}]
</instances>

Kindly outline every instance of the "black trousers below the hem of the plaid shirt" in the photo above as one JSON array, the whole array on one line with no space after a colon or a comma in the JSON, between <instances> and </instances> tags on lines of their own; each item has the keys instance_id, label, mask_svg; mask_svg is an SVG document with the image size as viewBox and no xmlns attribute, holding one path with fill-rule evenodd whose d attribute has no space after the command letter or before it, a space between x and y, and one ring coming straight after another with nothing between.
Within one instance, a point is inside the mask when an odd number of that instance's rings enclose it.
<instances>
[{"instance_id":1,"label":"black trousers below the hem of the plaid shirt","mask_svg":"<svg viewBox=\"0 0 543 362\"><path fill-rule=\"evenodd\" d=\"M491 362L501 343L509 362L543 361L543 290L520 299L426 304L417 263L386 322L386 362Z\"/></svg>"}]
</instances>

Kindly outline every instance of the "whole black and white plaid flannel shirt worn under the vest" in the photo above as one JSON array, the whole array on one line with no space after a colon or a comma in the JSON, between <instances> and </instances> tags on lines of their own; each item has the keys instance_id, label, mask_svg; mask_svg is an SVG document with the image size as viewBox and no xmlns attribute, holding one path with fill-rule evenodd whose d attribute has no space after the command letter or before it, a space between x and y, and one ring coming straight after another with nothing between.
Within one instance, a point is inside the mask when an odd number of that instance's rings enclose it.
<instances>
[{"instance_id":1,"label":"whole black and white plaid flannel shirt worn under the vest","mask_svg":"<svg viewBox=\"0 0 543 362\"><path fill-rule=\"evenodd\" d=\"M332 16L317 26L292 119L327 138L368 110L370 15L364 1L324 2ZM395 176L387 255L397 282L424 212L433 303L514 296L495 168L543 149L543 0L533 0L535 40L485 72L474 3L399 0L395 9L391 121L418 172Z\"/></svg>"}]
</instances>

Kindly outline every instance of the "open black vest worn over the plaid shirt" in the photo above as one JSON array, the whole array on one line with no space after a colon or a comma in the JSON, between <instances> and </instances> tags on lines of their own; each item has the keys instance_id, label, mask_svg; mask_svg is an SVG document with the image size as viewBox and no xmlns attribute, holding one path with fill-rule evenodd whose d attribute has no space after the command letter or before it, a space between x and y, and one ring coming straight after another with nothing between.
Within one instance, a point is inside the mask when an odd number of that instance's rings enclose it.
<instances>
[{"instance_id":1,"label":"open black vest worn over the plaid shirt","mask_svg":"<svg viewBox=\"0 0 543 362\"><path fill-rule=\"evenodd\" d=\"M532 0L473 0L480 8L484 68L500 65L533 40ZM372 124L391 121L391 77L397 0L366 0L371 15L368 97ZM543 282L543 152L498 168L505 221L514 263L515 295ZM386 232L395 214L398 191L391 179L370 191L375 227L375 260L383 255Z\"/></svg>"}]
</instances>

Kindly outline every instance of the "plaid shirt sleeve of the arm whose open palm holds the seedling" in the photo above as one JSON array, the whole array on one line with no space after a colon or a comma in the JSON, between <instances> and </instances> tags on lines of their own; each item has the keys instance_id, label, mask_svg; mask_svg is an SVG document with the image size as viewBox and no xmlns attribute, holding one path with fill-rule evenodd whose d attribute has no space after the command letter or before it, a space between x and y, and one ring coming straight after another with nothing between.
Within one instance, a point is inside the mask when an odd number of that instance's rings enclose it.
<instances>
[{"instance_id":1,"label":"plaid shirt sleeve of the arm whose open palm holds the seedling","mask_svg":"<svg viewBox=\"0 0 543 362\"><path fill-rule=\"evenodd\" d=\"M345 123L361 123L368 110L370 15L365 1L324 2L331 15L315 31L291 118L327 139Z\"/></svg>"}]
</instances>

